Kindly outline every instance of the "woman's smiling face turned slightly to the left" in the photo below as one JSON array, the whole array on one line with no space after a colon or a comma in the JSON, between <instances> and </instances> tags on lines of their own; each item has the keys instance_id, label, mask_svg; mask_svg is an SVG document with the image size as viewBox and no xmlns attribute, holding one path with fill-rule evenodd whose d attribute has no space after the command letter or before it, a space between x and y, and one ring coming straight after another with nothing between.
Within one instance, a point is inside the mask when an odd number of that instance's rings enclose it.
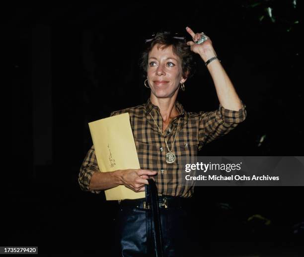
<instances>
[{"instance_id":1,"label":"woman's smiling face turned slightly to the left","mask_svg":"<svg viewBox=\"0 0 304 257\"><path fill-rule=\"evenodd\" d=\"M172 46L155 45L148 56L147 78L152 93L158 98L172 97L186 79L182 78L181 60Z\"/></svg>"}]
</instances>

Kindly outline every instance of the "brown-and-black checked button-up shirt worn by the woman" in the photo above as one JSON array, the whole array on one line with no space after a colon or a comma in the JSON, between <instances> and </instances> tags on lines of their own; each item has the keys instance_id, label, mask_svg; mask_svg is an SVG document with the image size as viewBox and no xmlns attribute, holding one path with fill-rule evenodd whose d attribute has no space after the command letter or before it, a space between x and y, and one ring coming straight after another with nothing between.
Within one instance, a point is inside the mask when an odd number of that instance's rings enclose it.
<instances>
[{"instance_id":1,"label":"brown-and-black checked button-up shirt worn by the woman","mask_svg":"<svg viewBox=\"0 0 304 257\"><path fill-rule=\"evenodd\" d=\"M197 151L205 144L213 141L217 137L227 134L246 118L245 105L238 111L225 109L221 104L218 110L211 112L186 112L183 106L176 101L176 108L179 116L175 117L163 135L155 125L152 114L158 127L162 130L162 118L159 108L148 99L146 104L112 112L111 116L129 113L131 127L136 144L137 154L141 169L157 171L153 176L158 193L172 196L190 197L193 194L193 186L187 187L178 183L180 174L178 163L181 157L196 156ZM172 152L176 160L172 164L166 162L164 137L167 140L169 149L172 147L178 120L175 143ZM88 188L94 172L99 172L94 146L87 152L81 165L78 182L81 190L92 193L100 193L101 190L90 190Z\"/></svg>"}]
</instances>

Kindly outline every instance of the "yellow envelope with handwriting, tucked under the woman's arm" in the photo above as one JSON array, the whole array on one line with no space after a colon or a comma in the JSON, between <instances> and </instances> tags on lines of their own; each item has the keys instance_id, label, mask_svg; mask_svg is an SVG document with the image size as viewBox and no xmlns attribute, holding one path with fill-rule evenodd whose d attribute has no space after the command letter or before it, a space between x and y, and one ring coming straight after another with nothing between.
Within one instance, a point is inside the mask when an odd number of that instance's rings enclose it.
<instances>
[{"instance_id":1,"label":"yellow envelope with handwriting, tucked under the woman's arm","mask_svg":"<svg viewBox=\"0 0 304 257\"><path fill-rule=\"evenodd\" d=\"M140 169L129 113L88 124L101 172ZM107 200L144 198L145 192L134 192L123 185L105 190Z\"/></svg>"}]
</instances>

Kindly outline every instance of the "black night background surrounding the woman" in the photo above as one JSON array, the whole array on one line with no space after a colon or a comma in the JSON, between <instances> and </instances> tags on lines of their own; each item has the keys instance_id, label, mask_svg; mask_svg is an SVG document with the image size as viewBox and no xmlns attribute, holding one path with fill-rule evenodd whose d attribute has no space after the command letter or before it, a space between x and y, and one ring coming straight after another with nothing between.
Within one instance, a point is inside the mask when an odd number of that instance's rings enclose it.
<instances>
[{"instance_id":1,"label":"black night background surrounding the woman","mask_svg":"<svg viewBox=\"0 0 304 257\"><path fill-rule=\"evenodd\" d=\"M138 58L145 37L162 27L205 32L247 107L247 119L199 155L303 156L299 8L291 0L3 7L12 160L2 177L0 245L110 256L118 205L77 182L92 145L88 122L147 101ZM178 100L187 111L215 110L212 78L196 58ZM301 195L302 187L196 188L200 251L300 253Z\"/></svg>"}]
</instances>

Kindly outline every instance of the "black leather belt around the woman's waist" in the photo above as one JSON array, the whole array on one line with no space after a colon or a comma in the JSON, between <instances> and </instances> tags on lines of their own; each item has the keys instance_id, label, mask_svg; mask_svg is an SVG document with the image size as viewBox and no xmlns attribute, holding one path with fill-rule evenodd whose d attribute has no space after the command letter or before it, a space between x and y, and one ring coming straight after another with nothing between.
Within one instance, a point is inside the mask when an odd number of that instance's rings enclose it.
<instances>
[{"instance_id":1,"label":"black leather belt around the woman's waist","mask_svg":"<svg viewBox=\"0 0 304 257\"><path fill-rule=\"evenodd\" d=\"M171 196L171 195L158 195L158 207L160 208L178 208L188 206L190 199L180 196ZM121 206L127 207L138 207L142 209L151 209L149 203L147 203L146 198L139 199L125 199L120 202Z\"/></svg>"}]
</instances>

